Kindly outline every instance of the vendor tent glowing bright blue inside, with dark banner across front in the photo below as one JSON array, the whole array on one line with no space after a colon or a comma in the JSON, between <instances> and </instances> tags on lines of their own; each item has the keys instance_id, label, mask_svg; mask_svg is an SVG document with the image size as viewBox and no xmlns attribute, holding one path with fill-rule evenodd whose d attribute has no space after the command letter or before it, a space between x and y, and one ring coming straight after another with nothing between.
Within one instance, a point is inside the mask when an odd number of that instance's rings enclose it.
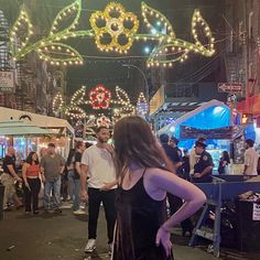
<instances>
[{"instance_id":1,"label":"vendor tent glowing bright blue inside, with dark banner across front","mask_svg":"<svg viewBox=\"0 0 260 260\"><path fill-rule=\"evenodd\" d=\"M191 149L197 138L205 137L207 151L217 166L221 151L229 151L232 139L231 124L229 107L214 99L162 128L158 136L167 133L170 137L176 137L180 139L178 147L183 149Z\"/></svg>"}]
</instances>

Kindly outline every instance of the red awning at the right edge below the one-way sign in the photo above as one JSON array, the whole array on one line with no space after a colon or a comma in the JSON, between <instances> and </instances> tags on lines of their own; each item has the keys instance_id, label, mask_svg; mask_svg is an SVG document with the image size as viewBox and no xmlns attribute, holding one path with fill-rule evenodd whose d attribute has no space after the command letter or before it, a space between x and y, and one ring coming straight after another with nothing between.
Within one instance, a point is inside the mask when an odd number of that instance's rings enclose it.
<instances>
[{"instance_id":1,"label":"red awning at the right edge below the one-way sign","mask_svg":"<svg viewBox=\"0 0 260 260\"><path fill-rule=\"evenodd\" d=\"M249 97L248 101L240 101L236 104L236 109L242 113L251 113L260 116L260 95Z\"/></svg>"}]
</instances>

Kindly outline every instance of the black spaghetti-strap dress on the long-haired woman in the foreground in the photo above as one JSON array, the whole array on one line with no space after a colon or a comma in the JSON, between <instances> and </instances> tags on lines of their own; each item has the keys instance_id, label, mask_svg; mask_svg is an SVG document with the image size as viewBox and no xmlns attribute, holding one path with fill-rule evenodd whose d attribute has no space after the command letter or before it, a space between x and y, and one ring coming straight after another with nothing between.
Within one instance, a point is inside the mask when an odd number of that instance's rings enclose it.
<instances>
[{"instance_id":1,"label":"black spaghetti-strap dress on the long-haired woman in the foreground","mask_svg":"<svg viewBox=\"0 0 260 260\"><path fill-rule=\"evenodd\" d=\"M158 229L166 219L166 201L154 201L148 195L144 173L145 170L132 188L118 188L112 260L173 260L161 245L155 245Z\"/></svg>"}]
</instances>

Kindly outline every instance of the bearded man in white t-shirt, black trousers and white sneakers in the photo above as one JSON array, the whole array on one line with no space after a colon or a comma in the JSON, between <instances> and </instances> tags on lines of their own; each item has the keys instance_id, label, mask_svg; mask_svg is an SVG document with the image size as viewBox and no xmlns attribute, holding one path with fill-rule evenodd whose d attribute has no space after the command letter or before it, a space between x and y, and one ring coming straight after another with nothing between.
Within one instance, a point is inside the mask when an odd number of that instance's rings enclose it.
<instances>
[{"instance_id":1,"label":"bearded man in white t-shirt, black trousers and white sneakers","mask_svg":"<svg viewBox=\"0 0 260 260\"><path fill-rule=\"evenodd\" d=\"M88 242L85 247L85 252L93 252L96 249L100 203L102 203L105 209L110 252L116 221L115 197L117 177L112 160L112 149L107 143L110 138L109 129L99 127L96 136L97 144L86 149L82 156L82 198L88 199ZM88 193L86 192L86 181L88 183Z\"/></svg>"}]
</instances>

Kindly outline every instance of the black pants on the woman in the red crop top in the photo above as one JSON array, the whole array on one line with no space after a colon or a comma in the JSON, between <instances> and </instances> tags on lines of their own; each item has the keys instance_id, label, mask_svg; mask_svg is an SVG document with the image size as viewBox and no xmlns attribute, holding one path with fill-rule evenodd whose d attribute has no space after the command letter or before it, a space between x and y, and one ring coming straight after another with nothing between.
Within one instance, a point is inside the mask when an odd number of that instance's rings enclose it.
<instances>
[{"instance_id":1,"label":"black pants on the woman in the red crop top","mask_svg":"<svg viewBox=\"0 0 260 260\"><path fill-rule=\"evenodd\" d=\"M39 210L37 204L39 204L39 193L41 189L41 181L40 178L29 178L28 183L30 186L30 189L23 185L24 191L24 198L25 198L25 212L31 212L33 208L33 213Z\"/></svg>"}]
</instances>

